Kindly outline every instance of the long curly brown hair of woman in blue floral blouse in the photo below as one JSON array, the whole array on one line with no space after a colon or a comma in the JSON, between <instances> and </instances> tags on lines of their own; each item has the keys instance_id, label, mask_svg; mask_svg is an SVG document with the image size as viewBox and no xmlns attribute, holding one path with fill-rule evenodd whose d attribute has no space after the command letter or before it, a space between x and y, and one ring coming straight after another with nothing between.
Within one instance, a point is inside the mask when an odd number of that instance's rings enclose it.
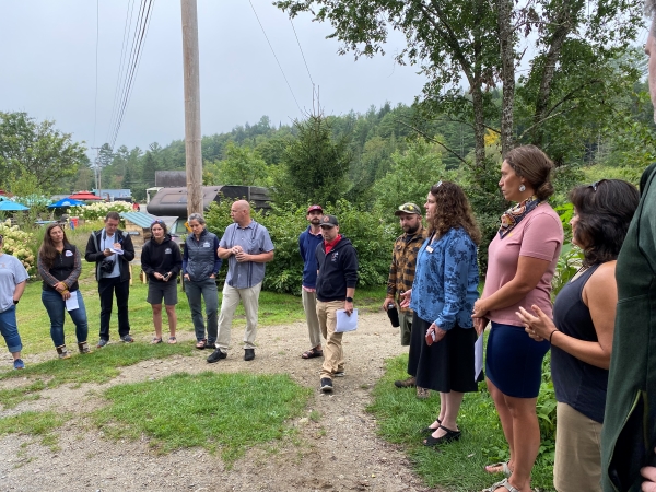
<instances>
[{"instance_id":1,"label":"long curly brown hair of woman in blue floral blouse","mask_svg":"<svg viewBox=\"0 0 656 492\"><path fill-rule=\"evenodd\" d=\"M462 227L475 244L481 242L481 231L462 188L452 181L440 181L431 187L437 207L431 218L431 230L440 235L449 229Z\"/></svg>"}]
</instances>

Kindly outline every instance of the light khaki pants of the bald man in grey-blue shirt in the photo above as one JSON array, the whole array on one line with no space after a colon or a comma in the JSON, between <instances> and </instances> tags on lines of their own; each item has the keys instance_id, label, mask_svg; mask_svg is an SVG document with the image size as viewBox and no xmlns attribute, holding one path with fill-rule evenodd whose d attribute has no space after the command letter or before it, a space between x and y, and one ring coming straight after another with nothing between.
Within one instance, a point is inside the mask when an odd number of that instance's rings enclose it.
<instances>
[{"instance_id":1,"label":"light khaki pants of the bald man in grey-blue shirt","mask_svg":"<svg viewBox=\"0 0 656 492\"><path fill-rule=\"evenodd\" d=\"M239 301L244 304L246 312L246 329L244 330L244 349L255 349L255 336L257 335L257 309L259 304L259 292L262 283L249 289L235 289L227 283L223 284L223 301L221 313L219 313L219 336L216 345L227 352L233 316Z\"/></svg>"}]
</instances>

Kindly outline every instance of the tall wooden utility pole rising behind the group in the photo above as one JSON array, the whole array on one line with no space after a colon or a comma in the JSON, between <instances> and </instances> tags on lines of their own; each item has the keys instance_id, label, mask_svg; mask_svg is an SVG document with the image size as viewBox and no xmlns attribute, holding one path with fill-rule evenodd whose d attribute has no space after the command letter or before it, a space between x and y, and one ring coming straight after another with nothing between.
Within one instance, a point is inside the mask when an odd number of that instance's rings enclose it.
<instances>
[{"instance_id":1,"label":"tall wooden utility pole rising behind the group","mask_svg":"<svg viewBox=\"0 0 656 492\"><path fill-rule=\"evenodd\" d=\"M202 154L200 151L200 77L196 0L180 0L185 65L185 150L187 155L187 214L202 213Z\"/></svg>"}]
</instances>

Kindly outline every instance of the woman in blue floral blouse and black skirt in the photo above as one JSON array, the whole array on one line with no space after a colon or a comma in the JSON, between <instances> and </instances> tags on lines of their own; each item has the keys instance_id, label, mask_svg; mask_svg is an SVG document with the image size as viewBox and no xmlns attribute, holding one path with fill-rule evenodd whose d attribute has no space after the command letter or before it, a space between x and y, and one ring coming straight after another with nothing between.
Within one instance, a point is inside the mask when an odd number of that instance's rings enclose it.
<instances>
[{"instance_id":1,"label":"woman in blue floral blouse and black skirt","mask_svg":"<svg viewBox=\"0 0 656 492\"><path fill-rule=\"evenodd\" d=\"M431 233L417 257L412 290L403 295L414 309L408 373L418 386L440 393L437 419L424 429L424 445L435 446L460 438L456 418L462 397L478 389L471 309L479 297L481 233L454 183L434 185L424 208Z\"/></svg>"}]
</instances>

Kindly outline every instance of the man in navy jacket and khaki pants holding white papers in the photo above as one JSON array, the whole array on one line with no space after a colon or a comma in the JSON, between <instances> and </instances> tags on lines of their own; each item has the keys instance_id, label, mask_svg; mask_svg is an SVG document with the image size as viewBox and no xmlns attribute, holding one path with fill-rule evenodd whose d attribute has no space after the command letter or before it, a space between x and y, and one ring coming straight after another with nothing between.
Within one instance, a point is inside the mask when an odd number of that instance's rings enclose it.
<instances>
[{"instance_id":1,"label":"man in navy jacket and khaki pants holding white papers","mask_svg":"<svg viewBox=\"0 0 656 492\"><path fill-rule=\"evenodd\" d=\"M339 233L335 215L320 222L324 241L317 246L317 317L326 339L321 366L321 391L332 391L332 378L344 375L342 332L337 327L337 311L353 313L353 295L358 283L358 255L351 241Z\"/></svg>"}]
</instances>

